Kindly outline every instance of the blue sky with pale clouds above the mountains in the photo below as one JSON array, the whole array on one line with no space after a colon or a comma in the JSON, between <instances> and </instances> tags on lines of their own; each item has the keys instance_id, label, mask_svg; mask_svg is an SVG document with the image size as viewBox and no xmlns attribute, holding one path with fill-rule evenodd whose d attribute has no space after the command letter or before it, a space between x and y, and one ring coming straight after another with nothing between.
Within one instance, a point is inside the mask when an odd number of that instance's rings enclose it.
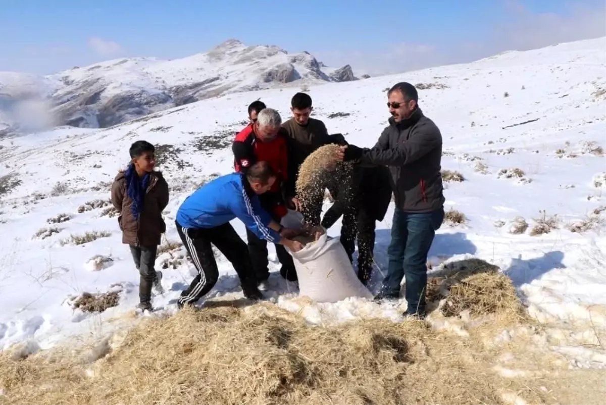
<instances>
[{"instance_id":1,"label":"blue sky with pale clouds above the mountains","mask_svg":"<svg viewBox=\"0 0 606 405\"><path fill-rule=\"evenodd\" d=\"M0 0L0 70L179 58L228 38L391 73L606 35L606 0Z\"/></svg>"}]
</instances>

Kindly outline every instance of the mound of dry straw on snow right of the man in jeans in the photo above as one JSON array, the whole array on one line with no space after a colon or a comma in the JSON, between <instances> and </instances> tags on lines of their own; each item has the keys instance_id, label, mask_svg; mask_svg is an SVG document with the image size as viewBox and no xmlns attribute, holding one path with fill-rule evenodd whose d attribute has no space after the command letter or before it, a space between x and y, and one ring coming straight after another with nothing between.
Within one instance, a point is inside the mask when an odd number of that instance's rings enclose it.
<instances>
[{"instance_id":1,"label":"mound of dry straw on snow right of the man in jeans","mask_svg":"<svg viewBox=\"0 0 606 405\"><path fill-rule=\"evenodd\" d=\"M501 318L524 316L524 307L511 279L498 266L478 258L442 264L439 277L428 279L427 299L444 300L439 310L444 316L497 314Z\"/></svg>"}]
</instances>

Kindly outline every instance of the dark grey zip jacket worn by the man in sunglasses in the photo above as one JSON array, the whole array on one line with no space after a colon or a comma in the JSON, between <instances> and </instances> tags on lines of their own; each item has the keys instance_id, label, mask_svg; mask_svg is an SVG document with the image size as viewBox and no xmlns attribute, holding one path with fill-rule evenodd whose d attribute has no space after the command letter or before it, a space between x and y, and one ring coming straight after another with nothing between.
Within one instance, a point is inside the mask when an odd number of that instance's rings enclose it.
<instances>
[{"instance_id":1,"label":"dark grey zip jacket worn by the man in sunglasses","mask_svg":"<svg viewBox=\"0 0 606 405\"><path fill-rule=\"evenodd\" d=\"M361 162L389 167L396 206L404 212L432 212L444 207L442 134L417 108L402 122L389 119L379 141L364 149Z\"/></svg>"}]
</instances>

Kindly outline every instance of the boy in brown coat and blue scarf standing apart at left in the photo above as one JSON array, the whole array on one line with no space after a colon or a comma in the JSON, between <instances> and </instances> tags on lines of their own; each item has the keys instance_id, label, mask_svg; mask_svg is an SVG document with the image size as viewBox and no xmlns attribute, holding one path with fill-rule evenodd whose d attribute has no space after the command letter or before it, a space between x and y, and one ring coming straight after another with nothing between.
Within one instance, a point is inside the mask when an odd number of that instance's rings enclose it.
<instances>
[{"instance_id":1,"label":"boy in brown coat and blue scarf standing apart at left","mask_svg":"<svg viewBox=\"0 0 606 405\"><path fill-rule=\"evenodd\" d=\"M162 290L162 272L154 269L156 253L166 224L162 211L168 204L168 184L155 172L155 147L136 141L130 147L132 162L118 173L112 184L112 204L119 212L122 243L130 246L139 281L139 308L152 310L151 289Z\"/></svg>"}]
</instances>

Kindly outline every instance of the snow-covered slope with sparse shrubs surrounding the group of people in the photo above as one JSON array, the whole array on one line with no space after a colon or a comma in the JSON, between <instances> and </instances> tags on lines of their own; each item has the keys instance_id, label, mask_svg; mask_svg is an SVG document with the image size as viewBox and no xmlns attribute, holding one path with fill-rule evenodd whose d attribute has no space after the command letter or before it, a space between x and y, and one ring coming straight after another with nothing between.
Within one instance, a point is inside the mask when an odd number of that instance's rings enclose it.
<instances>
[{"instance_id":1,"label":"snow-covered slope with sparse shrubs surrounding the group of people","mask_svg":"<svg viewBox=\"0 0 606 405\"><path fill-rule=\"evenodd\" d=\"M599 350L606 330L604 50L606 38L572 42L310 90L315 116L329 132L372 146L388 118L385 90L398 81L420 84L419 104L444 137L442 167L464 178L445 182L446 209L467 218L444 224L430 261L474 256L501 267L530 313L559 325L545 344L559 341L557 350L588 367L606 366ZM159 167L171 186L165 237L175 243L179 204L201 182L231 171L229 146L247 105L261 98L287 119L293 93L227 95L105 130L63 127L0 140L0 347L21 341L49 347L66 336L104 335L136 318L139 275L107 205L110 183L127 164L133 141L160 146ZM373 289L387 264L391 212L378 224ZM234 226L244 238L242 224ZM535 235L541 229L548 232ZM101 237L88 243L69 239L95 231ZM338 235L339 225L329 234ZM98 255L105 259L90 261ZM270 255L277 270L273 247ZM218 260L222 275L208 298L241 296L235 273ZM176 298L195 273L183 249L163 252L156 265L165 292L153 300L154 316L176 310ZM313 323L367 316L398 321L405 307L360 300L309 304L278 273L271 283L272 300ZM108 290L121 291L119 305L99 315L70 306L83 292Z\"/></svg>"}]
</instances>

